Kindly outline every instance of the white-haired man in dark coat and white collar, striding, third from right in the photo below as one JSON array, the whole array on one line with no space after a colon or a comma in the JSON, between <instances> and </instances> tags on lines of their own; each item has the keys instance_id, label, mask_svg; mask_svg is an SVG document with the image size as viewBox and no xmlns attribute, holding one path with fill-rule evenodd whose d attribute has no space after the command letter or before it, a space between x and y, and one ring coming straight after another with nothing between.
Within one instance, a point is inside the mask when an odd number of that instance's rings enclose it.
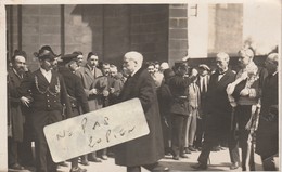
<instances>
[{"instance_id":1,"label":"white-haired man in dark coat and white collar, striding, third from right","mask_svg":"<svg viewBox=\"0 0 282 172\"><path fill-rule=\"evenodd\" d=\"M211 148L225 138L229 138L229 153L232 162L230 168L239 168L239 148L230 132L232 107L226 92L227 85L234 81L235 74L228 68L229 55L227 53L218 53L216 64L217 71L210 76L206 95L207 114L204 145L197 159L198 163L192 166L197 170L207 169L207 159Z\"/></svg>"}]
</instances>

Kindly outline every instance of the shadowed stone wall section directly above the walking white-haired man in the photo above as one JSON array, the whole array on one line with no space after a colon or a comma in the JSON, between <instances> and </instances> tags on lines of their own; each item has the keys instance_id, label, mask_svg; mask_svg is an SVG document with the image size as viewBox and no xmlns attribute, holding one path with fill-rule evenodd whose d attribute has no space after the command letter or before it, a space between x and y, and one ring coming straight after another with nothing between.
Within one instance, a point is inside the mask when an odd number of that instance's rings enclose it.
<instances>
[{"instance_id":1,"label":"shadowed stone wall section directly above the walking white-haired man","mask_svg":"<svg viewBox=\"0 0 282 172\"><path fill-rule=\"evenodd\" d=\"M130 50L140 51L144 61L168 59L168 5L130 8Z\"/></svg>"}]
</instances>

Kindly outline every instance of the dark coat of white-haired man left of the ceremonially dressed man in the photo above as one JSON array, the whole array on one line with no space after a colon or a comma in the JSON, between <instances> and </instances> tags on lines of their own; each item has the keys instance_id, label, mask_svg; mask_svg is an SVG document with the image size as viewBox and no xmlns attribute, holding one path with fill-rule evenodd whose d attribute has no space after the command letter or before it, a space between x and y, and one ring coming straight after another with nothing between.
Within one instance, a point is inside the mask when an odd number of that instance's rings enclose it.
<instances>
[{"instance_id":1,"label":"dark coat of white-haired man left of the ceremonially dressed man","mask_svg":"<svg viewBox=\"0 0 282 172\"><path fill-rule=\"evenodd\" d=\"M210 76L206 94L206 131L215 133L215 136L221 135L222 132L227 134L231 129L232 107L226 90L227 85L235 80L235 74L228 69L220 80L218 77L218 71Z\"/></svg>"}]
</instances>

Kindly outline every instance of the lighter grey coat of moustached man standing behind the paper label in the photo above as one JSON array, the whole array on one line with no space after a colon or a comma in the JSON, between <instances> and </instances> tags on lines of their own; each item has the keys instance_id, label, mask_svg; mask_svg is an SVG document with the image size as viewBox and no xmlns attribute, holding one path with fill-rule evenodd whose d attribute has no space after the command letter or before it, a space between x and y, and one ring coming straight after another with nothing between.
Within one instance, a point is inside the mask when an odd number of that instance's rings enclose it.
<instances>
[{"instance_id":1,"label":"lighter grey coat of moustached man standing behind the paper label","mask_svg":"<svg viewBox=\"0 0 282 172\"><path fill-rule=\"evenodd\" d=\"M94 67L93 70L94 70L94 75L91 72L89 66L86 65L85 67L80 67L76 71L76 75L82 81L82 85L84 85L85 93L88 98L90 111L97 110L102 107L101 102L98 102L98 97L100 95L90 95L90 90L92 90L94 88L93 82L95 81L95 79L98 77L103 76L102 71L100 69Z\"/></svg>"}]
</instances>

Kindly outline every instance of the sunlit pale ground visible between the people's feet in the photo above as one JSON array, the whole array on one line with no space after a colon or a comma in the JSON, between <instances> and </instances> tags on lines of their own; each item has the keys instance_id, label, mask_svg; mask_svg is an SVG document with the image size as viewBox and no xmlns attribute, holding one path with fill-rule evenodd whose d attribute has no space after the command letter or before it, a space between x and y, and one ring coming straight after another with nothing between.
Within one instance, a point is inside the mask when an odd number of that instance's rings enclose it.
<instances>
[{"instance_id":1,"label":"sunlit pale ground visible between the people's feet","mask_svg":"<svg viewBox=\"0 0 282 172\"><path fill-rule=\"evenodd\" d=\"M191 168L191 164L196 163L196 159L200 155L200 151L195 151L192 154L189 154L189 158L187 159L180 159L178 161L172 160L172 157L165 157L159 162L170 169L171 172L187 172L187 171L194 171L194 169ZM256 162L256 170L262 171L261 167L261 160L258 155L255 155L255 162ZM278 158L275 159L277 164L279 164ZM68 172L70 162L67 162L68 167L59 167L59 172ZM125 167L119 167L115 164L114 158L108 158L108 160L104 160L102 163L94 163L90 162L90 166L81 166L81 168L87 169L88 172L126 172ZM220 151L211 151L210 154L210 164L208 164L208 169L206 171L230 171L230 158L229 158L229 151L220 150ZM9 170L13 172L12 170ZM22 172L34 172L35 170L33 168L29 168L28 170L24 170ZM233 170L233 171L242 171L241 168ZM142 169L142 172L149 172L145 169Z\"/></svg>"}]
</instances>

